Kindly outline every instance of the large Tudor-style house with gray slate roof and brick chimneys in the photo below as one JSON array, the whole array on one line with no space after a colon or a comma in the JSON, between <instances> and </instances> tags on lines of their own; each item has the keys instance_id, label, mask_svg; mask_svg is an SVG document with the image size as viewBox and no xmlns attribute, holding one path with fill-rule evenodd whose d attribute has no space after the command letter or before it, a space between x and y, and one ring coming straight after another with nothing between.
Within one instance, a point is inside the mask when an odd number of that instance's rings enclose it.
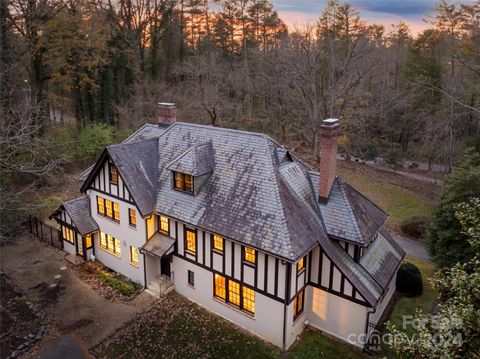
<instances>
[{"instance_id":1,"label":"large Tudor-style house with gray slate roof and brick chimneys","mask_svg":"<svg viewBox=\"0 0 480 359\"><path fill-rule=\"evenodd\" d=\"M84 172L82 197L52 215L65 251L284 349L306 325L368 336L404 252L386 213L336 176L337 120L323 122L315 171L264 134L175 117L159 104L158 124Z\"/></svg>"}]
</instances>

